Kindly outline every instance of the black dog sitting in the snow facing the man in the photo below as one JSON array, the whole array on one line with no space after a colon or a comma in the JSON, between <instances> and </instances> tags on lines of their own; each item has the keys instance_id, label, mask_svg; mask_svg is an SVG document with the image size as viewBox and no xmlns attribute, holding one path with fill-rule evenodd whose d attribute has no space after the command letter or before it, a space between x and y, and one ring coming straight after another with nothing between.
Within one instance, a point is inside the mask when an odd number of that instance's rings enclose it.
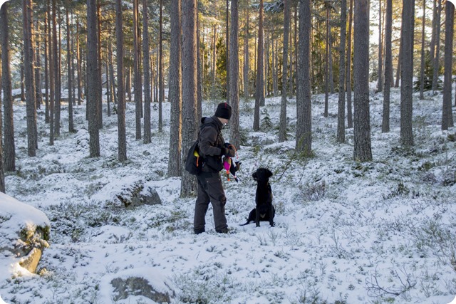
<instances>
[{"instance_id":1,"label":"black dog sitting in the snow facing the man","mask_svg":"<svg viewBox=\"0 0 456 304\"><path fill-rule=\"evenodd\" d=\"M272 191L271 185L269 184L269 177L272 176L272 172L266 168L257 169L252 177L258 182L257 194L255 194L256 207L250 211L247 223L241 226L250 224L251 221L255 221L257 227L259 227L259 221L269 221L271 227L274 227L274 216L276 215L276 209L272 206Z\"/></svg>"}]
</instances>

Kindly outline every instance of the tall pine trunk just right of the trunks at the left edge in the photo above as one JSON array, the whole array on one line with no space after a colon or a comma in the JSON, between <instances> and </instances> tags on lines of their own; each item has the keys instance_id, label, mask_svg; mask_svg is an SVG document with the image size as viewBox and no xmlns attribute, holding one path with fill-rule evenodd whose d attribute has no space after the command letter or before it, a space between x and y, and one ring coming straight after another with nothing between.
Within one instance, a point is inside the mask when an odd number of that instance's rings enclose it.
<instances>
[{"instance_id":1,"label":"tall pine trunk just right of the trunks at the left edge","mask_svg":"<svg viewBox=\"0 0 456 304\"><path fill-rule=\"evenodd\" d=\"M24 79L26 83L27 152L36 156L36 89L33 69L33 16L31 0L22 1L24 24Z\"/></svg>"}]
</instances>

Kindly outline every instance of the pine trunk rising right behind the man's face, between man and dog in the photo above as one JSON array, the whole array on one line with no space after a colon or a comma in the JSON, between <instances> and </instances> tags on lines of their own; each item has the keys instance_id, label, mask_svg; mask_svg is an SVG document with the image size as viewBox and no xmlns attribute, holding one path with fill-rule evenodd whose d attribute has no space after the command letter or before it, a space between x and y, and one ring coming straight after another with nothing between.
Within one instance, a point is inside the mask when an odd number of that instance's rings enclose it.
<instances>
[{"instance_id":1,"label":"pine trunk rising right behind the man's face, between man and dog","mask_svg":"<svg viewBox=\"0 0 456 304\"><path fill-rule=\"evenodd\" d=\"M229 141L239 150L241 136L239 133L239 2L231 1L231 33L229 35L229 101L232 117L229 124Z\"/></svg>"}]
</instances>

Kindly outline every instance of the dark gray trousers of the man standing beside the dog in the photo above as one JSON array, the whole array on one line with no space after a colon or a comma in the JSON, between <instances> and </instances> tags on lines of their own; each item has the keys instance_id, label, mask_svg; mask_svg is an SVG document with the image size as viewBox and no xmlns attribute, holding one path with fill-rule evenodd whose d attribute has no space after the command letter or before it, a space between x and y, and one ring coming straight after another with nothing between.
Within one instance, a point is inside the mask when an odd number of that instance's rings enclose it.
<instances>
[{"instance_id":1,"label":"dark gray trousers of the man standing beside the dog","mask_svg":"<svg viewBox=\"0 0 456 304\"><path fill-rule=\"evenodd\" d=\"M225 216L225 204L227 197L223 190L222 179L219 172L201 172L197 175L198 180L198 197L195 204L195 218L193 220L193 229L195 231L203 230L206 224L205 216L209 208L209 202L214 209L215 230L228 228L227 218Z\"/></svg>"}]
</instances>

